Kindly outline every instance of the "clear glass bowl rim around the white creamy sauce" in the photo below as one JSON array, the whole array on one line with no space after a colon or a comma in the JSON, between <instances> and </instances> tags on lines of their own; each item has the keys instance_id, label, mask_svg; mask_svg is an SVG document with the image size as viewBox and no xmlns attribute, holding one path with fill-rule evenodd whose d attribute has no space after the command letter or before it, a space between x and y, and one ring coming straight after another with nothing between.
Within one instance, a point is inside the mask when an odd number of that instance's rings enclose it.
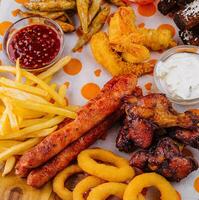
<instances>
[{"instance_id":1,"label":"clear glass bowl rim around the white creamy sauce","mask_svg":"<svg viewBox=\"0 0 199 200\"><path fill-rule=\"evenodd\" d=\"M198 46L193 46L193 45L180 45L173 47L167 51L165 51L158 62L155 65L154 69L154 81L155 84L158 88L158 90L161 93L166 94L166 96L170 99L171 102L180 104L180 105L194 105L199 103L199 97L195 99L183 99L180 97L173 97L171 93L168 91L167 86L163 83L163 81L158 77L158 68L160 66L161 62L164 62L167 60L170 56L176 54L176 53L194 53L199 55L199 47ZM198 66L199 67L199 66Z\"/></svg>"}]
</instances>

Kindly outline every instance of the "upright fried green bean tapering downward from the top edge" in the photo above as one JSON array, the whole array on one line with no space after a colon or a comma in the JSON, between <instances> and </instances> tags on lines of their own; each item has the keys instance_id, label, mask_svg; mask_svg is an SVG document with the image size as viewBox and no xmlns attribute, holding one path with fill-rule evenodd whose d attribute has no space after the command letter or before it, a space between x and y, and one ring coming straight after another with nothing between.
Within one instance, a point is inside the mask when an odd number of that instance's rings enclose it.
<instances>
[{"instance_id":1,"label":"upright fried green bean tapering downward from the top edge","mask_svg":"<svg viewBox=\"0 0 199 200\"><path fill-rule=\"evenodd\" d=\"M76 0L76 4L82 30L84 33L87 33L89 0Z\"/></svg>"}]
</instances>

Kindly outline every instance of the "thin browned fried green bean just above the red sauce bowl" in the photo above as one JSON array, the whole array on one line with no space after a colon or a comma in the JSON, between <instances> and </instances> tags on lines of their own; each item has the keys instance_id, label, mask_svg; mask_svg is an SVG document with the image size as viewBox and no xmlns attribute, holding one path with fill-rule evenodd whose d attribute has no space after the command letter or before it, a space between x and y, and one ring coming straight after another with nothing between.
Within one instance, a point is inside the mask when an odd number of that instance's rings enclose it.
<instances>
[{"instance_id":1,"label":"thin browned fried green bean just above the red sauce bowl","mask_svg":"<svg viewBox=\"0 0 199 200\"><path fill-rule=\"evenodd\" d=\"M63 12L63 11L61 11L61 12L40 12L40 11L23 12L20 10L19 16L21 16L21 17L42 16L42 17L48 17L51 19L57 19L62 16L65 16L65 12Z\"/></svg>"}]
</instances>

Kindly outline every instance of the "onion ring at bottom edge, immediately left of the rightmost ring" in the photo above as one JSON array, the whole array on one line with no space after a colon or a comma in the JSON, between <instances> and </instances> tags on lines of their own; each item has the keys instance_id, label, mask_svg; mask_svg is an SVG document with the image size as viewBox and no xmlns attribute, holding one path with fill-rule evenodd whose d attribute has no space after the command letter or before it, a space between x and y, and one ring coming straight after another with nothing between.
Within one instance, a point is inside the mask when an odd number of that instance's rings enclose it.
<instances>
[{"instance_id":1,"label":"onion ring at bottom edge, immediately left of the rightmost ring","mask_svg":"<svg viewBox=\"0 0 199 200\"><path fill-rule=\"evenodd\" d=\"M114 195L120 199L123 199L124 191L127 185L124 183L104 183L91 190L87 200L105 200L109 196Z\"/></svg>"}]
</instances>

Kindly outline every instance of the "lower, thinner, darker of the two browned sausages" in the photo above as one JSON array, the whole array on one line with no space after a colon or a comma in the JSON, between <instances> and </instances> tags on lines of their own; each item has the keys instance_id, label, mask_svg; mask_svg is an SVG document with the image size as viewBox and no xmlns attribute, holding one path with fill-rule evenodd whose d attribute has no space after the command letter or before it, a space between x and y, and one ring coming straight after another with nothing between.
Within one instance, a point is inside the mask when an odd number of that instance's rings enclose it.
<instances>
[{"instance_id":1,"label":"lower, thinner, darker of the two browned sausages","mask_svg":"<svg viewBox=\"0 0 199 200\"><path fill-rule=\"evenodd\" d=\"M73 142L57 156L48 161L40 168L32 170L27 179L27 184L39 188L53 178L58 172L63 170L69 163L76 159L77 155L84 149L92 145L113 124L120 118L121 112L118 111L109 116L105 121L90 130L84 136Z\"/></svg>"}]
</instances>

